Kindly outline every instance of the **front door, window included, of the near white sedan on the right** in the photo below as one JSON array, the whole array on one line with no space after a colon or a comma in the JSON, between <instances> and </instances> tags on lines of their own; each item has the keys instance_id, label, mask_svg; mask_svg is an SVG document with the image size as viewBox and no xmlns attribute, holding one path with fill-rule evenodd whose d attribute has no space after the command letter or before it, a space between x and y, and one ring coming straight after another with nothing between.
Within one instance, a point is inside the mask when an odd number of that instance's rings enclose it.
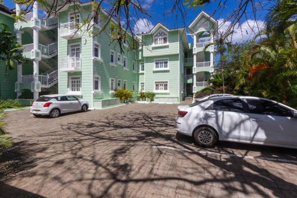
<instances>
[{"instance_id":1,"label":"front door, window included, of the near white sedan on the right","mask_svg":"<svg viewBox=\"0 0 297 198\"><path fill-rule=\"evenodd\" d=\"M297 147L297 118L293 111L264 99L247 99L251 142Z\"/></svg>"}]
</instances>

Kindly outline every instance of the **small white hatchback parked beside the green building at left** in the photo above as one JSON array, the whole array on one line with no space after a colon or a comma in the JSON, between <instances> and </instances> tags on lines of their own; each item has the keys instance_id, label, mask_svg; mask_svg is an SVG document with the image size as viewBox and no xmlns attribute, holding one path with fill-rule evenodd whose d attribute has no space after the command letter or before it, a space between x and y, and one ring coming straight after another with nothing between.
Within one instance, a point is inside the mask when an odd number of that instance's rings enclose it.
<instances>
[{"instance_id":1,"label":"small white hatchback parked beside the green building at left","mask_svg":"<svg viewBox=\"0 0 297 198\"><path fill-rule=\"evenodd\" d=\"M31 103L30 112L34 116L58 117L61 113L87 111L89 103L72 95L45 95Z\"/></svg>"}]
</instances>

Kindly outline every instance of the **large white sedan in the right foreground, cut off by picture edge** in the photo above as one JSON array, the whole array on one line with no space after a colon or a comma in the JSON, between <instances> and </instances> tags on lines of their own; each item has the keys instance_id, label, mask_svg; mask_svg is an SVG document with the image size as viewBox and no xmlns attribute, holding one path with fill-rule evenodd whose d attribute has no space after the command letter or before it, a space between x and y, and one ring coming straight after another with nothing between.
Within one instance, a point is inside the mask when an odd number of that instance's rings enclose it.
<instances>
[{"instance_id":1,"label":"large white sedan in the right foreground, cut off by picture edge","mask_svg":"<svg viewBox=\"0 0 297 198\"><path fill-rule=\"evenodd\" d=\"M216 97L178 106L176 130L201 147L230 141L297 148L297 110L270 99Z\"/></svg>"}]
</instances>

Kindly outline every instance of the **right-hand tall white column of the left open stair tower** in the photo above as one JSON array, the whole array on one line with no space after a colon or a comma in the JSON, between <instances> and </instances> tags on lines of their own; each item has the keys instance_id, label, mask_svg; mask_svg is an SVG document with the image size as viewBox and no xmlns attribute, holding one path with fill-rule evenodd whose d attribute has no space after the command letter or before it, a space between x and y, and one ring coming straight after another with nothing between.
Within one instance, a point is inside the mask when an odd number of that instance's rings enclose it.
<instances>
[{"instance_id":1,"label":"right-hand tall white column of the left open stair tower","mask_svg":"<svg viewBox=\"0 0 297 198\"><path fill-rule=\"evenodd\" d=\"M33 4L33 18L38 18L38 1L34 1ZM37 27L33 28L33 47L34 49L38 50L39 46L39 37L38 37L39 29ZM37 84L39 81L39 60L33 60L33 76L34 76L34 83ZM39 93L34 91L34 100L38 99Z\"/></svg>"}]
</instances>

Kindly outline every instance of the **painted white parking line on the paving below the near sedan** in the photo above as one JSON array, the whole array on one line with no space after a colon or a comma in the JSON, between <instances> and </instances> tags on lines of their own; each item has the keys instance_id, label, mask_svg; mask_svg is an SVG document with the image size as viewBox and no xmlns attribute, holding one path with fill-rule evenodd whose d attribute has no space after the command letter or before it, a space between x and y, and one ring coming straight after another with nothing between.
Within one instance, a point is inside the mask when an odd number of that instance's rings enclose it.
<instances>
[{"instance_id":1,"label":"painted white parking line on the paving below the near sedan","mask_svg":"<svg viewBox=\"0 0 297 198\"><path fill-rule=\"evenodd\" d=\"M211 152L211 151L204 151L204 150L192 150L192 149L186 149L186 148L174 148L174 147L167 147L167 146L153 146L153 148L164 148L164 149L170 149L170 150L177 150L177 151L186 151L186 152L192 152L192 153L201 153L201 154L210 154L210 155L220 155L220 156L229 156L229 157L240 157L240 158L248 158L248 159L262 159L262 160L268 160L268 161L281 161L285 163L295 163L297 164L296 160L290 160L290 159L282 159L282 158L269 158L269 157L262 157L262 156L248 156L248 155L241 155L241 154L233 154L233 153L219 153L219 152Z\"/></svg>"}]
</instances>

